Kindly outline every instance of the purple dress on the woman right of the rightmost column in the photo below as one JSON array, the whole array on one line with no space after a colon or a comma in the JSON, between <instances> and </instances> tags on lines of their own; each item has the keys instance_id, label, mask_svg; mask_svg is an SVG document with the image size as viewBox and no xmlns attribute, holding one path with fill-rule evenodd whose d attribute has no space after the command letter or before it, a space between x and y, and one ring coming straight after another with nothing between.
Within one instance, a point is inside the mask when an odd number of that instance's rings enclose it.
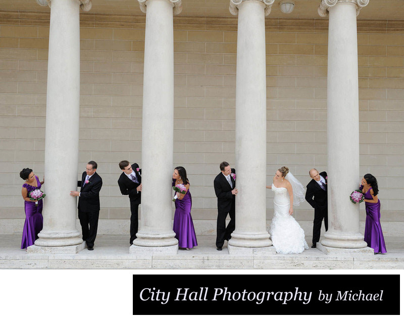
<instances>
[{"instance_id":1,"label":"purple dress on the woman right of the rightmost column","mask_svg":"<svg viewBox=\"0 0 404 319\"><path fill-rule=\"evenodd\" d=\"M360 190L362 191L362 189L363 186L361 186ZM370 194L371 189L365 193L365 199L373 199ZM375 253L386 253L386 244L384 243L382 226L380 224L380 200L377 203L365 202L365 208L365 242L368 243L368 247L374 249Z\"/></svg>"}]
</instances>

